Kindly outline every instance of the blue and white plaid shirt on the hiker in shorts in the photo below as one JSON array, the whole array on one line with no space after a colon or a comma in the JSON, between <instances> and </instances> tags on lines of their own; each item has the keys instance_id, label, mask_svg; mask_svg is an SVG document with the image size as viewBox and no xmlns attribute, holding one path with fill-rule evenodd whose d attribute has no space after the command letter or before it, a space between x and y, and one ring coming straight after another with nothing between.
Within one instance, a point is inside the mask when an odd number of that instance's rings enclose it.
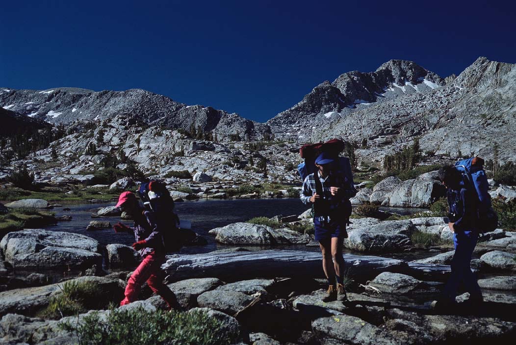
<instances>
[{"instance_id":1,"label":"blue and white plaid shirt on the hiker in shorts","mask_svg":"<svg viewBox=\"0 0 516 345\"><path fill-rule=\"evenodd\" d=\"M343 200L347 200L357 194L353 181L345 181L339 174L328 175L326 178L323 178L320 176L319 171L316 171L314 174L310 174L304 179L303 187L301 189L301 201L307 205L311 203L310 198L316 192L315 174L317 174L322 186L322 195L320 197L329 201L330 209L336 209L340 206ZM330 187L340 187L341 190L337 195L331 195ZM326 220L328 221L329 219Z\"/></svg>"}]
</instances>

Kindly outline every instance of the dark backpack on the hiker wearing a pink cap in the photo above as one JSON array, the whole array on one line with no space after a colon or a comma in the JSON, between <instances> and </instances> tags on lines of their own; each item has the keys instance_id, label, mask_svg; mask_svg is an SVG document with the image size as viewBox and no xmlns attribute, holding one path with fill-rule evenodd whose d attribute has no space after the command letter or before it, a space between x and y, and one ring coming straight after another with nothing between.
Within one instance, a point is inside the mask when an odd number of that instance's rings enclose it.
<instances>
[{"instance_id":1,"label":"dark backpack on the hiker wearing a pink cap","mask_svg":"<svg viewBox=\"0 0 516 345\"><path fill-rule=\"evenodd\" d=\"M160 181L142 183L137 193L144 208L153 212L160 224L167 226L163 232L163 244L167 252L178 252L183 246L178 229L179 217L173 212L174 200L165 184Z\"/></svg>"}]
</instances>

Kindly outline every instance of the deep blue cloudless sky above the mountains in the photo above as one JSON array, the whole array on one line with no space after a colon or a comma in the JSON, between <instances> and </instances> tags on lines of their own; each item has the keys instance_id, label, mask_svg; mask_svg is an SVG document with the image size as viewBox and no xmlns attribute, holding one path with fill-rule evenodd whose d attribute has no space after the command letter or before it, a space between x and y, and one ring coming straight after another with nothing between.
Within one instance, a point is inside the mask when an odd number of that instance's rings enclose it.
<instances>
[{"instance_id":1,"label":"deep blue cloudless sky above the mountains","mask_svg":"<svg viewBox=\"0 0 516 345\"><path fill-rule=\"evenodd\" d=\"M516 63L513 1L3 1L0 86L142 88L266 121L325 80Z\"/></svg>"}]
</instances>

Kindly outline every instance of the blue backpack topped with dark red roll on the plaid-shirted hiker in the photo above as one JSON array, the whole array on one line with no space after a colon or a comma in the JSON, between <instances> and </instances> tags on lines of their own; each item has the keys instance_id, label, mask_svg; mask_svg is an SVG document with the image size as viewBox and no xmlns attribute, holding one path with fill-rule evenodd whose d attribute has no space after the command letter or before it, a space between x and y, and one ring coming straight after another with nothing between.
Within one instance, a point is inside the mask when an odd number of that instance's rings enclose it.
<instances>
[{"instance_id":1,"label":"blue backpack topped with dark red roll on the plaid-shirted hiker","mask_svg":"<svg viewBox=\"0 0 516 345\"><path fill-rule=\"evenodd\" d=\"M355 190L353 184L353 174L351 171L351 164L347 157L341 157L339 154L344 150L345 143L340 139L331 139L326 143L317 143L317 144L305 144L301 146L299 149L299 154L301 158L304 159L304 162L298 164L297 171L301 180L304 182L305 178L308 175L313 174L317 171L317 167L315 166L315 159L322 152L328 153L335 160L335 166L333 174L337 174L343 178L345 183L348 184L347 188L349 190ZM322 194L322 186L320 183L316 181L316 189L317 194ZM345 219L349 223L349 216L352 212L351 202L349 200L345 200L342 205L342 212ZM316 205L313 205L313 212L315 213Z\"/></svg>"}]
</instances>

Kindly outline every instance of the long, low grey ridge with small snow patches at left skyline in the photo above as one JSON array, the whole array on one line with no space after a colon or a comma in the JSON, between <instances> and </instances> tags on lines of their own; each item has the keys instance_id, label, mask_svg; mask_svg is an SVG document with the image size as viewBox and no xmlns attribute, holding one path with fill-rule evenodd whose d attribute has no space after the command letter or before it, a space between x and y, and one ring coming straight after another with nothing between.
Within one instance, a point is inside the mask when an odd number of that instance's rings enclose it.
<instances>
[{"instance_id":1,"label":"long, low grey ridge with small snow patches at left skyline","mask_svg":"<svg viewBox=\"0 0 516 345\"><path fill-rule=\"evenodd\" d=\"M141 89L95 92L67 87L48 90L1 88L0 106L53 124L120 117L127 124L184 130L193 126L220 140L229 139L232 134L252 140L270 137L270 129L265 124L209 106L186 105Z\"/></svg>"}]
</instances>

